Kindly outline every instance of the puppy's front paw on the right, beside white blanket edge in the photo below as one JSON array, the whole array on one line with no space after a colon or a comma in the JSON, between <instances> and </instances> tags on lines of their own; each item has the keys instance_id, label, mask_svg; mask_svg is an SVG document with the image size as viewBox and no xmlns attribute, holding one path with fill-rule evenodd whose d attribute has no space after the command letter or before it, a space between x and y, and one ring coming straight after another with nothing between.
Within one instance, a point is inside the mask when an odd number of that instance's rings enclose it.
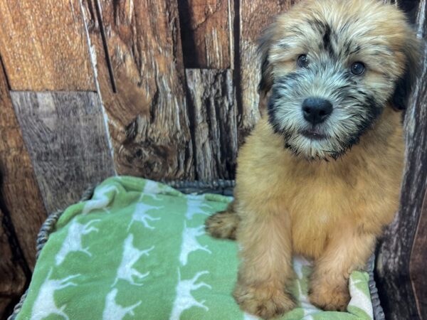
<instances>
[{"instance_id":1,"label":"puppy's front paw on the right, beside white blanket edge","mask_svg":"<svg viewBox=\"0 0 427 320\"><path fill-rule=\"evenodd\" d=\"M327 311L345 311L350 301L349 289L344 284L312 283L309 299L312 304Z\"/></svg>"}]
</instances>

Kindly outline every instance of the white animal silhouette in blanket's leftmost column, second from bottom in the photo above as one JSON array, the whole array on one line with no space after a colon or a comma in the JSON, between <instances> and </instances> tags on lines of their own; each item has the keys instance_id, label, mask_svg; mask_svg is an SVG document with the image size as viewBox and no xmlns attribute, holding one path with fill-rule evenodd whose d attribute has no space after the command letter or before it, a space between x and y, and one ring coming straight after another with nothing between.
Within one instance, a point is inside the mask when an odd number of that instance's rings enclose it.
<instances>
[{"instance_id":1,"label":"white animal silhouette in blanket's leftmost column, second from bottom","mask_svg":"<svg viewBox=\"0 0 427 320\"><path fill-rule=\"evenodd\" d=\"M82 235L87 235L94 231L98 232L99 230L92 226L92 224L97 221L100 221L100 219L90 220L88 223L83 225L78 223L76 220L73 220L68 228L67 237L55 256L56 265L60 265L70 252L84 252L89 257L92 257L92 254L88 251L88 247L83 247L82 245Z\"/></svg>"}]
</instances>

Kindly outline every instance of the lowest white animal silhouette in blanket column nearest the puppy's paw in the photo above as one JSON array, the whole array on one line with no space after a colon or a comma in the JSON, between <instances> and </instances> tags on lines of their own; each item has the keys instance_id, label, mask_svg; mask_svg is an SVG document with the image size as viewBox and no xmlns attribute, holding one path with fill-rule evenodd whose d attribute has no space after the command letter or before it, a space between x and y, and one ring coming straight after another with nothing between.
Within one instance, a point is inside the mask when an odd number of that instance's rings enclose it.
<instances>
[{"instance_id":1,"label":"lowest white animal silhouette in blanket column nearest the puppy's paw","mask_svg":"<svg viewBox=\"0 0 427 320\"><path fill-rule=\"evenodd\" d=\"M191 291L197 290L201 287L212 289L212 287L209 284L206 284L204 282L199 282L198 284L196 284L196 281L199 279L199 277L207 273L209 272L208 271L197 272L196 275L193 277L193 279L181 280L181 273L179 272L179 269L178 269L178 285L176 286L176 298L174 301L174 306L172 308L172 314L169 320L179 320L179 316L181 316L182 312L186 309L190 309L193 306L199 306L200 308L203 308L206 311L209 310L209 308L204 305L205 300L198 302L191 295Z\"/></svg>"}]
</instances>

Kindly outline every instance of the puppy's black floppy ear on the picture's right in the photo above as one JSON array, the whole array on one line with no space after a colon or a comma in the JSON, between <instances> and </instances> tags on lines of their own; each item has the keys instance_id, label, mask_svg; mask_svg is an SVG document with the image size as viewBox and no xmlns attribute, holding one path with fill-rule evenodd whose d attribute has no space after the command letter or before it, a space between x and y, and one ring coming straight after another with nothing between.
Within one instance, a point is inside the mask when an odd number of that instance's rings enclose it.
<instances>
[{"instance_id":1,"label":"puppy's black floppy ear on the picture's right","mask_svg":"<svg viewBox=\"0 0 427 320\"><path fill-rule=\"evenodd\" d=\"M411 95L413 85L418 76L418 66L421 58L421 43L415 35L408 37L404 55L406 58L405 71L397 80L393 97L391 97L391 105L395 110L406 110L409 96Z\"/></svg>"}]
</instances>

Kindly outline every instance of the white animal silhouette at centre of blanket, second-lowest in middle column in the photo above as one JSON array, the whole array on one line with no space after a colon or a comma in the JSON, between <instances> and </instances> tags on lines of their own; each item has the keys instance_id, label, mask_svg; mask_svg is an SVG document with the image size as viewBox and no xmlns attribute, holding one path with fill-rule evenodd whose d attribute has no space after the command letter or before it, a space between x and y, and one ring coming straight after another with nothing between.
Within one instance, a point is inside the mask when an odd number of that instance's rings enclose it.
<instances>
[{"instance_id":1,"label":"white animal silhouette at centre of blanket, second-lowest in middle column","mask_svg":"<svg viewBox=\"0 0 427 320\"><path fill-rule=\"evenodd\" d=\"M154 245L147 250L139 250L133 246L132 242L133 235L130 234L125 240L125 245L123 246L122 262L120 262L120 266L117 269L117 276L111 287L114 287L119 279L126 280L132 285L142 286L142 283L135 282L133 277L135 276L137 279L142 280L149 274L149 272L142 274L141 272L134 269L132 265L134 265L142 255L149 256L149 252L154 249Z\"/></svg>"}]
</instances>

